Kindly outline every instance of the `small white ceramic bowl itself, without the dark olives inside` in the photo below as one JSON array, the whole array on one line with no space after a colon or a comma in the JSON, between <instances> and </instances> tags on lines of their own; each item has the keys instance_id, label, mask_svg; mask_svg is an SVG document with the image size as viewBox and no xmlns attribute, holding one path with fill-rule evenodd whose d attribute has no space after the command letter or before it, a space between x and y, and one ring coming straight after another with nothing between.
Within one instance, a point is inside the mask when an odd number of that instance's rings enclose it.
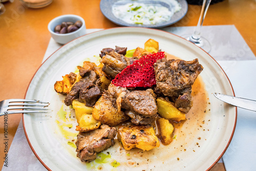
<instances>
[{"instance_id":1,"label":"small white ceramic bowl itself, without the dark olives inside","mask_svg":"<svg viewBox=\"0 0 256 171\"><path fill-rule=\"evenodd\" d=\"M81 20L82 22L82 26L78 30L66 34L59 34L54 32L54 28L57 25L61 25L62 22L75 23L77 20ZM67 44L67 42L70 42L71 40L86 34L86 23L84 22L84 19L78 15L60 15L51 20L51 22L48 24L48 30L56 42L59 44Z\"/></svg>"}]
</instances>

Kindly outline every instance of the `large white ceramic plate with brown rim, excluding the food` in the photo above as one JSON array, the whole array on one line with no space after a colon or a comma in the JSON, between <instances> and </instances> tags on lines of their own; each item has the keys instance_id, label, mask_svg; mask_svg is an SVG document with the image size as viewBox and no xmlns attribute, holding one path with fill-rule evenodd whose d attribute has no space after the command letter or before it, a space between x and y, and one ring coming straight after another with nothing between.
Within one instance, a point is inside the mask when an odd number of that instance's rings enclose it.
<instances>
[{"instance_id":1,"label":"large white ceramic plate with brown rim, excluding the food","mask_svg":"<svg viewBox=\"0 0 256 171\"><path fill-rule=\"evenodd\" d=\"M161 145L143 153L138 149L127 152L116 141L113 147L103 152L106 155L109 152L111 156L103 162L80 162L76 158L75 148L68 145L67 139L58 131L57 113L64 98L54 91L55 81L62 80L62 75L73 72L84 60L96 61L93 56L98 55L103 48L114 48L116 45L130 50L138 46L143 48L144 42L149 38L157 40L160 49L169 54L184 60L199 59L204 67L200 75L208 92L210 111L204 114L203 119L194 119L194 123L187 120L181 130L175 133L176 139L168 146ZM33 152L49 170L90 170L94 167L103 170L207 170L226 151L237 120L236 108L216 99L212 94L215 92L234 95L231 84L218 63L191 42L154 29L108 29L71 41L42 64L29 85L26 98L49 101L50 112L47 115L24 114L24 129ZM69 111L67 108L68 114ZM118 167L111 166L110 163L114 160L120 163Z\"/></svg>"}]
</instances>

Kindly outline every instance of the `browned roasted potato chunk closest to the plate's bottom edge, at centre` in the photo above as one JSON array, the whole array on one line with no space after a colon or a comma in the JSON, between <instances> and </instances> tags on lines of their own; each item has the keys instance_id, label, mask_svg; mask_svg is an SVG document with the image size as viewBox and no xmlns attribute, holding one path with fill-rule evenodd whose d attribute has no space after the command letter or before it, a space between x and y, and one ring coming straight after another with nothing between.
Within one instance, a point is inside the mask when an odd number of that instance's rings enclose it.
<instances>
[{"instance_id":1,"label":"browned roasted potato chunk closest to the plate's bottom edge, at centre","mask_svg":"<svg viewBox=\"0 0 256 171\"><path fill-rule=\"evenodd\" d=\"M117 137L126 150L137 147L143 149L143 151L149 151L160 145L151 125L121 125L118 128Z\"/></svg>"}]
</instances>

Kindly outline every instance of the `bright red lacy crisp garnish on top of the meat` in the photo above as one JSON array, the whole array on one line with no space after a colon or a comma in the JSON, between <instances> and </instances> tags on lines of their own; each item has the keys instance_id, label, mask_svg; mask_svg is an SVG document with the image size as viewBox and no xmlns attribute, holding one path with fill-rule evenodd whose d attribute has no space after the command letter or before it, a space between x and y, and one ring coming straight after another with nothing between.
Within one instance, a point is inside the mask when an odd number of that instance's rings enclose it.
<instances>
[{"instance_id":1,"label":"bright red lacy crisp garnish on top of the meat","mask_svg":"<svg viewBox=\"0 0 256 171\"><path fill-rule=\"evenodd\" d=\"M164 58L164 52L143 56L117 74L112 83L126 88L152 87L156 84L154 63L162 58Z\"/></svg>"}]
</instances>

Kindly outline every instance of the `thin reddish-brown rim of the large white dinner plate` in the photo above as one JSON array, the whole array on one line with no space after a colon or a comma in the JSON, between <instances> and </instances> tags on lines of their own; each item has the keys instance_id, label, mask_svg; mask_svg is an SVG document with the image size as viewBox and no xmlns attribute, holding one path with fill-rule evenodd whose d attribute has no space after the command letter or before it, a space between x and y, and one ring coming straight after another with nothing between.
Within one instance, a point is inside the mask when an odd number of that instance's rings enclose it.
<instances>
[{"instance_id":1,"label":"thin reddish-brown rim of the large white dinner plate","mask_svg":"<svg viewBox=\"0 0 256 171\"><path fill-rule=\"evenodd\" d=\"M106 31L106 30L115 30L115 29L116 29L116 30L119 30L119 29L127 29L127 28L128 28L128 29L132 28L132 29L150 29L150 30L157 30L157 31L161 31L161 32L164 32L164 33L167 33L167 34L172 34L172 35L174 35L174 36L177 36L177 37L179 37L179 38L182 38L182 37L180 37L180 36L178 36L178 35L175 35L175 34L173 34L173 33L167 32L167 31L158 30L158 29L154 29L154 28L141 28L141 27L117 27L117 28L109 28L109 29L103 29L103 30L99 30L99 31L92 32L92 33L88 33L88 34L83 35L83 36L87 36L87 35L90 35L90 34L97 34L97 32L102 32L102 31ZM80 37L83 37L83 36L80 36ZM72 41L75 41L76 39L79 39L80 37L77 37L77 38L75 38L74 40L71 40L70 42L68 42L67 44L61 46L61 47L58 48L56 51L54 51L44 62L41 63L41 65L40 65L40 66L38 67L38 69L35 71L33 77L31 78L31 80L30 80L30 82L29 82L29 84L28 84L28 87L27 87L27 90L26 90L26 93L25 93L25 96L24 96L25 99L26 99L26 96L27 96L27 93L28 93L28 89L29 89L29 87L30 87L30 84L31 84L32 80L34 79L34 77L35 77L36 73L38 72L38 70L41 68L41 66L44 65L44 63L45 63L53 54L55 54L57 51L59 51L61 48L65 48L65 46L67 46L68 44L70 44ZM185 38L182 38L182 39L186 40ZM197 48L200 48L200 47L196 46L195 44L193 44L192 42L190 42L190 41L188 41L188 40L186 40L186 41L189 42L191 45L193 45L193 46L195 46L195 47L197 47ZM200 49L203 50L202 48L200 48ZM203 51L204 51L204 50L203 50ZM231 84L231 82L230 82L228 76L226 75L225 71L222 69L222 67L219 65L219 63L218 63L211 55L209 55L206 51L204 51L204 52L205 52L209 57L211 57L211 58L217 63L217 65L219 66L219 68L223 71L225 77L227 78L227 80L228 80L228 82L229 82L229 86L230 86L230 88L231 88L231 90L232 90L232 94L233 94L233 96L235 96L234 90L233 90L233 87L232 87L232 84ZM226 147L223 149L223 152L220 154L220 156L217 158L217 160L216 160L214 163L212 163L212 164L207 168L207 170L210 170L214 165L216 165L216 164L218 163L218 161L222 158L222 156L223 156L224 153L226 152L226 150L227 150L227 148L228 148L228 146L229 146L229 144L230 144L230 142L231 142L231 140L232 140L232 138L233 138L234 131L236 130L236 125L237 125L237 116L238 116L238 115L237 115L237 106L235 106L235 109L236 109L236 114L235 114L235 117L234 117L234 126L233 126L233 130L232 130L231 136L230 136L230 138L229 138L229 140L228 140L228 142L227 142L227 145L226 145ZM46 167L46 169L51 170L51 169L41 160L41 158L40 158L40 157L37 155L37 153L35 152L35 149L34 149L34 147L32 146L32 144L31 144L31 142L30 142L30 140L29 140L27 131L26 131L25 117L24 117L24 116L25 116L25 115L24 115L24 113L23 113L23 114L22 114L22 121L23 121L24 133L25 133L26 139L27 139L27 141L28 141L28 143L29 143L29 146L30 146L30 148L32 149L32 152L34 153L34 155L36 156L36 158L40 161L40 163L41 163L42 165L44 165L44 166ZM223 162L223 164L224 164L224 162ZM224 164L224 167L225 167L225 164Z\"/></svg>"}]
</instances>

